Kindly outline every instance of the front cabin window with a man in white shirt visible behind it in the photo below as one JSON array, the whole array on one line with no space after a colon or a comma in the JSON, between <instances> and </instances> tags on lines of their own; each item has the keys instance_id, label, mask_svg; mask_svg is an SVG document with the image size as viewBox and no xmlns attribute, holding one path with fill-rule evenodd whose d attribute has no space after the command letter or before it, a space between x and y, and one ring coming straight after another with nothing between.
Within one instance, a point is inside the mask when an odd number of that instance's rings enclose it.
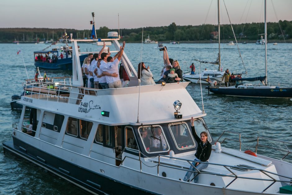
<instances>
[{"instance_id":1,"label":"front cabin window with a man in white shirt visible behind it","mask_svg":"<svg viewBox=\"0 0 292 195\"><path fill-rule=\"evenodd\" d=\"M142 126L138 129L143 146L148 153L169 150L167 139L160 126Z\"/></svg>"}]
</instances>

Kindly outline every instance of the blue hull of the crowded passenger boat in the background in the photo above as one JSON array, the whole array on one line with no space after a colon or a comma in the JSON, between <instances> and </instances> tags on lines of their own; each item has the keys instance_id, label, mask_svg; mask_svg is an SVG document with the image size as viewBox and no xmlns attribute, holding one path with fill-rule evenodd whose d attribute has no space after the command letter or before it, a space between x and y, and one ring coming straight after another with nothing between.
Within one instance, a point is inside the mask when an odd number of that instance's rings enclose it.
<instances>
[{"instance_id":1,"label":"blue hull of the crowded passenger boat in the background","mask_svg":"<svg viewBox=\"0 0 292 195\"><path fill-rule=\"evenodd\" d=\"M80 64L83 63L87 56L87 54L79 56ZM44 69L72 70L72 58L58 59L57 63L34 61L34 66Z\"/></svg>"}]
</instances>

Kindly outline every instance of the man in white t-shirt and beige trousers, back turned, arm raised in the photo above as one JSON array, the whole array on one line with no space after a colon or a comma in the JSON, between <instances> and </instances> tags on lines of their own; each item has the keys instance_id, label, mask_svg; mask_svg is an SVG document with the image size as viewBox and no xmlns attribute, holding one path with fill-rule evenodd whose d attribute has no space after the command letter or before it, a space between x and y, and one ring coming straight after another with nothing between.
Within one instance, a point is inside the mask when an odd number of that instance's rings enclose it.
<instances>
[{"instance_id":1,"label":"man in white t-shirt and beige trousers, back turned, arm raised","mask_svg":"<svg viewBox=\"0 0 292 195\"><path fill-rule=\"evenodd\" d=\"M125 48L125 41L123 42L123 46L120 47L119 53L117 53L117 58L114 60L111 56L107 57L107 63L105 62L106 56L103 55L102 53L102 62L99 66L99 69L101 71L105 71L108 73L115 73L119 72L118 65L120 63L121 57L123 55L123 51ZM108 84L109 88L121 88L122 83L120 80L120 76L118 77L111 77L111 76L105 76L106 77L106 82Z\"/></svg>"}]
</instances>

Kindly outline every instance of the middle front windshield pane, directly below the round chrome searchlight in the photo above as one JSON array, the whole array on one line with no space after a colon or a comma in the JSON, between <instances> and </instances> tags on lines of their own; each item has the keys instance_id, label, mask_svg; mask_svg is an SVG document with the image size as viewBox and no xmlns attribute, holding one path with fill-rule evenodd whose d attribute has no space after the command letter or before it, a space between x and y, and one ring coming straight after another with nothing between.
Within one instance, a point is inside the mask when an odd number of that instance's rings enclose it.
<instances>
[{"instance_id":1,"label":"middle front windshield pane, directly below the round chrome searchlight","mask_svg":"<svg viewBox=\"0 0 292 195\"><path fill-rule=\"evenodd\" d=\"M186 123L169 124L169 129L179 150L195 146L192 133Z\"/></svg>"}]
</instances>

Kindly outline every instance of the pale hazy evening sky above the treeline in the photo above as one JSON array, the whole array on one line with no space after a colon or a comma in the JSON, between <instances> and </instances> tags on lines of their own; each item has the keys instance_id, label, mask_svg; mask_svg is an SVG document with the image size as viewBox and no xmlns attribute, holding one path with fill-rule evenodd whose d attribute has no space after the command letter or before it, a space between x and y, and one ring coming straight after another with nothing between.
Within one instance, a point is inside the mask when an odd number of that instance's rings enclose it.
<instances>
[{"instance_id":1,"label":"pale hazy evening sky above the treeline","mask_svg":"<svg viewBox=\"0 0 292 195\"><path fill-rule=\"evenodd\" d=\"M220 0L221 24L229 24L224 2L232 24L264 21L264 0ZM292 0L267 0L267 21L292 21L291 8ZM117 29L118 13L121 29L217 24L217 0L1 0L0 28L91 29L91 12L96 29Z\"/></svg>"}]
</instances>

